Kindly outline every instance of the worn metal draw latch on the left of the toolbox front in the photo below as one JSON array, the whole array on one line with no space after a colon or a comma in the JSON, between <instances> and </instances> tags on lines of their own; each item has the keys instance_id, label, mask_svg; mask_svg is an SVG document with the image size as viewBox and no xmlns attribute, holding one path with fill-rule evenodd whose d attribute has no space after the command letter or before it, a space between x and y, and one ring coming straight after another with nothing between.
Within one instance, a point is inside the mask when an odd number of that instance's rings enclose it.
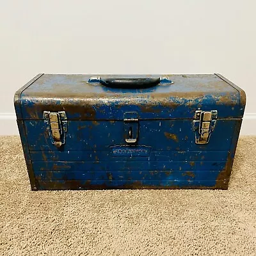
<instances>
[{"instance_id":1,"label":"worn metal draw latch on the left of the toolbox front","mask_svg":"<svg viewBox=\"0 0 256 256\"><path fill-rule=\"evenodd\" d=\"M52 144L58 148L65 144L67 132L67 116L65 111L44 111L44 123L47 125L47 131L49 131Z\"/></svg>"}]
</instances>

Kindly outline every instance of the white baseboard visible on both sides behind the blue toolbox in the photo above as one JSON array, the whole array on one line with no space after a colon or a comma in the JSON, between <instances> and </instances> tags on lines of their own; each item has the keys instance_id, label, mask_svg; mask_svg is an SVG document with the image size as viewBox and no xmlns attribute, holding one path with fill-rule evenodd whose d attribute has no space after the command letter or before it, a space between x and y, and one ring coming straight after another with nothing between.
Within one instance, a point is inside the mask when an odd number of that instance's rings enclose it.
<instances>
[{"instance_id":1,"label":"white baseboard visible on both sides behind the blue toolbox","mask_svg":"<svg viewBox=\"0 0 256 256\"><path fill-rule=\"evenodd\" d=\"M244 114L241 135L256 135L256 113ZM16 116L13 113L0 113L0 135L18 135Z\"/></svg>"}]
</instances>

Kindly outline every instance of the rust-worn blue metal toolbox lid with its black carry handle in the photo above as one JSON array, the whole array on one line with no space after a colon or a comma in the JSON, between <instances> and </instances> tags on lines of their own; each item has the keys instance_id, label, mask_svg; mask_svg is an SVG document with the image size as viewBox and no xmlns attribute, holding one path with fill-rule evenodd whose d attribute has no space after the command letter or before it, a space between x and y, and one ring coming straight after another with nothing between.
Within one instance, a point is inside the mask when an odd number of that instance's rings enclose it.
<instances>
[{"instance_id":1,"label":"rust-worn blue metal toolbox lid with its black carry handle","mask_svg":"<svg viewBox=\"0 0 256 256\"><path fill-rule=\"evenodd\" d=\"M194 118L218 111L218 118L243 117L246 96L218 74L57 75L39 74L15 93L17 119L43 120L44 111L65 111L68 120Z\"/></svg>"}]
</instances>

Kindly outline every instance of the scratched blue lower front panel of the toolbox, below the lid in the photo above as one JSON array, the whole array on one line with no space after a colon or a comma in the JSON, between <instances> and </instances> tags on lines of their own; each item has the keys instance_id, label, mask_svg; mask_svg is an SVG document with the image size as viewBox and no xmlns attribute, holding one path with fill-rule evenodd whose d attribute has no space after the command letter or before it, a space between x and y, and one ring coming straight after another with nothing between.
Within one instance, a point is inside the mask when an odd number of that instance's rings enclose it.
<instances>
[{"instance_id":1,"label":"scratched blue lower front panel of the toolbox, below the lid","mask_svg":"<svg viewBox=\"0 0 256 256\"><path fill-rule=\"evenodd\" d=\"M24 121L37 189L216 188L234 157L237 124L217 120L209 143L198 145L193 120L139 120L130 146L120 120L68 121L57 148L43 120Z\"/></svg>"}]
</instances>

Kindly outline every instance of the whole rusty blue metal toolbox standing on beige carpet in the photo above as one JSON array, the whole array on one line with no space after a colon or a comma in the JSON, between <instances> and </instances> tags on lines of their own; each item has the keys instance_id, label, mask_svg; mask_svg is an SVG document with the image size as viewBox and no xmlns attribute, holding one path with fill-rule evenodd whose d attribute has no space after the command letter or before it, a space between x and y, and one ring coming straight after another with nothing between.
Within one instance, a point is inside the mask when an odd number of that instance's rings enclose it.
<instances>
[{"instance_id":1,"label":"whole rusty blue metal toolbox standing on beige carpet","mask_svg":"<svg viewBox=\"0 0 256 256\"><path fill-rule=\"evenodd\" d=\"M41 189L227 189L243 90L218 74L39 74L15 93Z\"/></svg>"}]
</instances>

